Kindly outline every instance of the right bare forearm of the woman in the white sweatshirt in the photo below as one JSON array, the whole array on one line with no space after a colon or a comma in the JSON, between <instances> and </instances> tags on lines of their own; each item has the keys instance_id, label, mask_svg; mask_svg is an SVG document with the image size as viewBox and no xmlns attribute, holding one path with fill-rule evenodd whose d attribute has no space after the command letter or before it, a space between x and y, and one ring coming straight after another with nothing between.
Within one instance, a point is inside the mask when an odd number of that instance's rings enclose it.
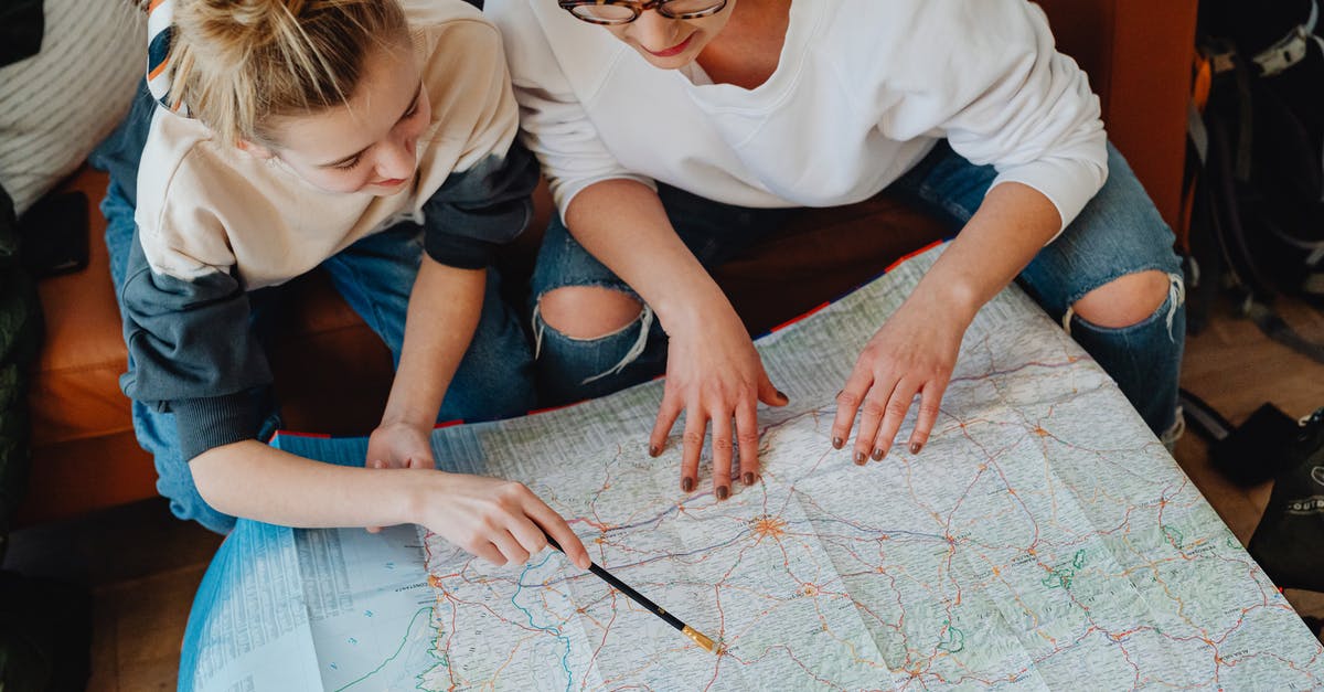
<instances>
[{"instance_id":1,"label":"right bare forearm of the woman in the white sweatshirt","mask_svg":"<svg viewBox=\"0 0 1324 692\"><path fill-rule=\"evenodd\" d=\"M1062 219L1049 198L1021 183L1000 184L984 198L914 296L969 323L1061 227Z\"/></svg>"}]
</instances>

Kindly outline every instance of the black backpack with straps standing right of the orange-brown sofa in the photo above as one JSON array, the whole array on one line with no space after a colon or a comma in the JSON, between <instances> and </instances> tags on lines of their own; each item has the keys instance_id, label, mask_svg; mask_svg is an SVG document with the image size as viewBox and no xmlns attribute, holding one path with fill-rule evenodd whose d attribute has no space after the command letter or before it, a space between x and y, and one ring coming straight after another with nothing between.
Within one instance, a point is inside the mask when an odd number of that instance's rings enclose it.
<instances>
[{"instance_id":1,"label":"black backpack with straps standing right of the orange-brown sofa","mask_svg":"<svg viewBox=\"0 0 1324 692\"><path fill-rule=\"evenodd\" d=\"M1324 308L1324 17L1320 0L1204 0L1188 180L1193 274L1219 277L1271 337L1324 362L1272 314ZM1197 280L1198 281L1198 280ZM1210 292L1194 310L1202 323Z\"/></svg>"}]
</instances>

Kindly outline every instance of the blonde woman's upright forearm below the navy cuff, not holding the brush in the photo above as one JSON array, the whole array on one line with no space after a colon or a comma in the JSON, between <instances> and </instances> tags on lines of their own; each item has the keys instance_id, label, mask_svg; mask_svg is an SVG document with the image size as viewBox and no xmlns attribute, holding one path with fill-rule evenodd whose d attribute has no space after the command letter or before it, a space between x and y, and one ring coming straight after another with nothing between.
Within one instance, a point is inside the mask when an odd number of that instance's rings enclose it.
<instances>
[{"instance_id":1,"label":"blonde woman's upright forearm below the navy cuff, not holding the brush","mask_svg":"<svg viewBox=\"0 0 1324 692\"><path fill-rule=\"evenodd\" d=\"M381 424L430 428L482 314L485 269L457 269L424 255L409 296L405 342Z\"/></svg>"}]
</instances>

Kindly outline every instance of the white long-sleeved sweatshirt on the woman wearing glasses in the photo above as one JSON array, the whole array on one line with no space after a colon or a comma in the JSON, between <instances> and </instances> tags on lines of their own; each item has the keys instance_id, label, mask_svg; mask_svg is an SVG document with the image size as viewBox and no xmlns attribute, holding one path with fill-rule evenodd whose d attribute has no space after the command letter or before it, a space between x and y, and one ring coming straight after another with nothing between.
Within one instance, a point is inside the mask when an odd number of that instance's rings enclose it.
<instances>
[{"instance_id":1,"label":"white long-sleeved sweatshirt on the woman wearing glasses","mask_svg":"<svg viewBox=\"0 0 1324 692\"><path fill-rule=\"evenodd\" d=\"M649 65L553 0L487 0L526 144L564 213L585 187L661 180L744 207L867 199L947 138L994 186L1046 195L1063 227L1107 178L1086 74L1026 0L794 0L753 90Z\"/></svg>"}]
</instances>

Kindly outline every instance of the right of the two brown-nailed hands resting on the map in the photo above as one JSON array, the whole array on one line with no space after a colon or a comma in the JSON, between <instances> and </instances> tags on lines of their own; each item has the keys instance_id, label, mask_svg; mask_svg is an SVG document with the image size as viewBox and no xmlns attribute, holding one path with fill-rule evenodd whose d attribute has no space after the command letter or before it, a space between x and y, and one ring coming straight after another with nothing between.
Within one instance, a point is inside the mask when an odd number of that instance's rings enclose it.
<instances>
[{"instance_id":1,"label":"right of the two brown-nailed hands resting on the map","mask_svg":"<svg viewBox=\"0 0 1324 692\"><path fill-rule=\"evenodd\" d=\"M937 420L968 325L919 292L902 304L869 339L846 387L837 395L833 447L841 449L850 437L859 411L854 460L861 465L870 456L882 460L919 394L919 416L908 443L911 453L919 453Z\"/></svg>"}]
</instances>

